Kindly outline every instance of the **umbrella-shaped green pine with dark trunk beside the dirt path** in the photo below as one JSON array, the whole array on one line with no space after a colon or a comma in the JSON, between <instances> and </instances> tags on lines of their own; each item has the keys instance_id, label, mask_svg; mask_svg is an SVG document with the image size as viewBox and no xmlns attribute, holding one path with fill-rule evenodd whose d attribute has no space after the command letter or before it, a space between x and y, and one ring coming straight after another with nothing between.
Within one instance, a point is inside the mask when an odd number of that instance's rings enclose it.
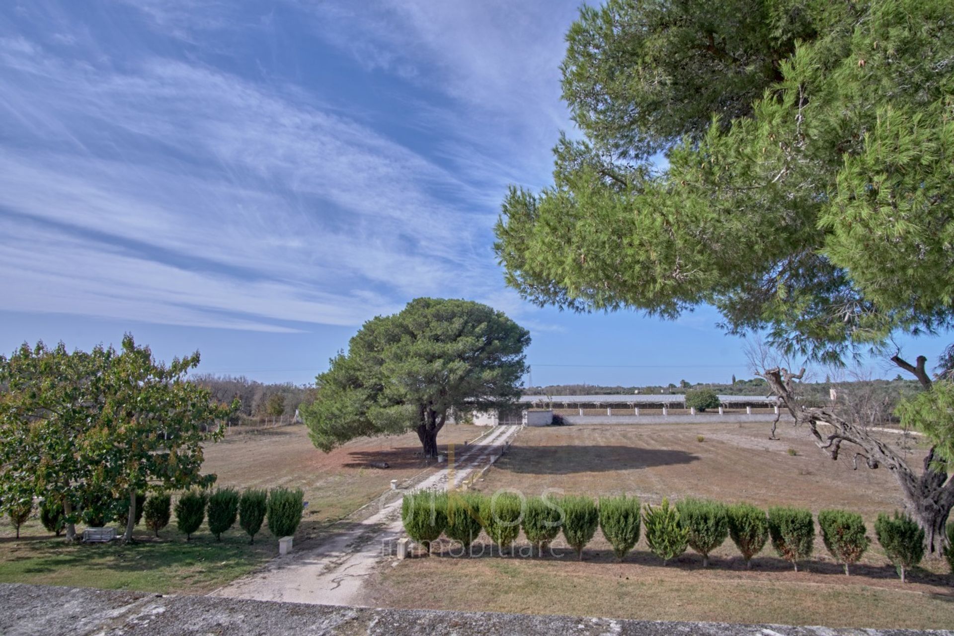
<instances>
[{"instance_id":1,"label":"umbrella-shaped green pine with dark trunk beside the dirt path","mask_svg":"<svg viewBox=\"0 0 954 636\"><path fill-rule=\"evenodd\" d=\"M318 377L301 409L328 451L358 437L416 431L426 457L451 411L506 406L520 396L529 332L487 305L417 298L372 318Z\"/></svg>"}]
</instances>

